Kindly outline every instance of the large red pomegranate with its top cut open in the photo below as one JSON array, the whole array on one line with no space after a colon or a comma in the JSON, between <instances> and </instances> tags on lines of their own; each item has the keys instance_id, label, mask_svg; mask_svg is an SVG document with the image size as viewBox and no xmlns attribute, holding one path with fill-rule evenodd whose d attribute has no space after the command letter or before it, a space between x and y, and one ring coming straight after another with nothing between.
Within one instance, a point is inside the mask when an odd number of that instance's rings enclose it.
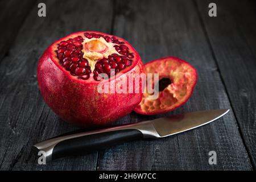
<instances>
[{"instance_id":1,"label":"large red pomegranate with its top cut open","mask_svg":"<svg viewBox=\"0 0 256 182\"><path fill-rule=\"evenodd\" d=\"M114 77L100 77L111 76L110 69ZM133 111L142 93L99 93L98 85L118 85L123 77L142 72L141 57L126 40L101 32L76 32L52 43L40 57L38 83L47 105L64 121L105 125Z\"/></svg>"}]
</instances>

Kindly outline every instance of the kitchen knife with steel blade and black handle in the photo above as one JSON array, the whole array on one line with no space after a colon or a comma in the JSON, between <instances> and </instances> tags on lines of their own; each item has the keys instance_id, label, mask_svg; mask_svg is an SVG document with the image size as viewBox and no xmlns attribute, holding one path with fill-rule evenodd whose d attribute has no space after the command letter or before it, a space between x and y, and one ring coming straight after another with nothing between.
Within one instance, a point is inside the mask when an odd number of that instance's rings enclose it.
<instances>
[{"instance_id":1,"label":"kitchen knife with steel blade and black handle","mask_svg":"<svg viewBox=\"0 0 256 182\"><path fill-rule=\"evenodd\" d=\"M229 109L196 111L130 125L61 135L35 144L33 150L36 151L36 155L38 151L44 151L46 162L49 162L67 155L82 155L103 150L130 140L168 137L206 125L228 112Z\"/></svg>"}]
</instances>

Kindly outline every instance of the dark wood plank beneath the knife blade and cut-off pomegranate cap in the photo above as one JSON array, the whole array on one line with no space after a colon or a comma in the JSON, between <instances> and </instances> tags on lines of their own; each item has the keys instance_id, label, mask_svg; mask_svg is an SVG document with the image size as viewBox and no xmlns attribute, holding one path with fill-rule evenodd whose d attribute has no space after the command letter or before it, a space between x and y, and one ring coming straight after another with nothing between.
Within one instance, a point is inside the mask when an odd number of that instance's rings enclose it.
<instances>
[{"instance_id":1,"label":"dark wood plank beneath the knife blade and cut-off pomegranate cap","mask_svg":"<svg viewBox=\"0 0 256 182\"><path fill-rule=\"evenodd\" d=\"M187 111L229 108L216 122L159 140L121 144L100 152L98 170L252 169L236 118L192 1L118 1L114 34L128 40L144 63L162 56L189 61L199 72L195 92L184 106L146 117L132 113L118 123L138 122ZM209 165L208 152L217 152Z\"/></svg>"}]
</instances>

